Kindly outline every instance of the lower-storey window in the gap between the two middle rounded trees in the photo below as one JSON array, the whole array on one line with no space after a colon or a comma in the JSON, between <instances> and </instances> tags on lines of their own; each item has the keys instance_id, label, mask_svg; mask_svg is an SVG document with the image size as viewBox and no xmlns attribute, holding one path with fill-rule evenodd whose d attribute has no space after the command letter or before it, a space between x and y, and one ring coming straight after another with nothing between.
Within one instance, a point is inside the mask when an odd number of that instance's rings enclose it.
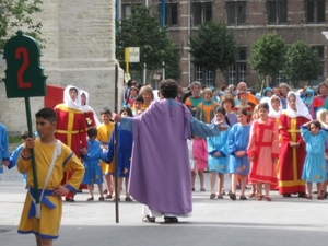
<instances>
[{"instance_id":1,"label":"lower-storey window in the gap between the two middle rounded trees","mask_svg":"<svg viewBox=\"0 0 328 246\"><path fill-rule=\"evenodd\" d=\"M247 81L247 49L246 47L239 48L238 59L235 65L227 68L229 84L236 85L241 81Z\"/></svg>"}]
</instances>

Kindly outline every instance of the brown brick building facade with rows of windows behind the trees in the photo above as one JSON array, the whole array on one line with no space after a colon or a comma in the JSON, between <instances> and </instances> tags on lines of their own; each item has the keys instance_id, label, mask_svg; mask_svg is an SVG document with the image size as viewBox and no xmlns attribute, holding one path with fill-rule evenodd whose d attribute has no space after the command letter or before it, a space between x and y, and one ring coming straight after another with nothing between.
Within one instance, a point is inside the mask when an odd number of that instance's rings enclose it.
<instances>
[{"instance_id":1,"label":"brown brick building facade with rows of windows behind the trees","mask_svg":"<svg viewBox=\"0 0 328 246\"><path fill-rule=\"evenodd\" d=\"M148 5L153 13L161 15L162 0L120 1L122 17L128 17L131 4ZM317 84L327 77L328 40L321 34L328 31L327 0L165 0L165 3L168 34L183 49L179 82L184 86L195 80L216 86L239 81L255 85L258 74L247 62L251 45L261 35L273 31L285 39L286 45L304 40L318 50L323 60L321 74L311 84ZM216 81L212 80L211 72L203 72L189 62L188 37L195 35L198 25L207 20L226 23L239 45L237 62L224 72L218 71ZM282 81L284 79L277 74L271 84Z\"/></svg>"}]
</instances>

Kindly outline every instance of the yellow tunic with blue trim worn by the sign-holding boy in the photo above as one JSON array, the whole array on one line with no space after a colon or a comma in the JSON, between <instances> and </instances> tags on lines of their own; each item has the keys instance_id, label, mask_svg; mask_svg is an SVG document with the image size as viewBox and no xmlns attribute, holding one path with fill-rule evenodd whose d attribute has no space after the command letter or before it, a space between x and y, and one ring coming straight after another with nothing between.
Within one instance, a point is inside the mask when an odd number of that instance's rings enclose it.
<instances>
[{"instance_id":1,"label":"yellow tunic with blue trim worn by the sign-holding boy","mask_svg":"<svg viewBox=\"0 0 328 246\"><path fill-rule=\"evenodd\" d=\"M44 188L55 148L56 143L45 144L38 139L35 140L34 155L38 181L38 196L40 196L42 189ZM19 233L34 233L40 238L56 239L60 226L62 201L60 197L52 196L52 191L56 187L60 186L63 172L71 172L72 177L68 180L66 187L72 192L77 192L84 176L84 166L72 150L61 143L60 155L56 159L51 176L45 187L44 196L40 198L39 219L33 214L34 206L31 198L34 190L32 159L24 159L21 155L17 161L17 168L21 173L27 174L26 180L28 187L31 187L26 194Z\"/></svg>"}]
</instances>

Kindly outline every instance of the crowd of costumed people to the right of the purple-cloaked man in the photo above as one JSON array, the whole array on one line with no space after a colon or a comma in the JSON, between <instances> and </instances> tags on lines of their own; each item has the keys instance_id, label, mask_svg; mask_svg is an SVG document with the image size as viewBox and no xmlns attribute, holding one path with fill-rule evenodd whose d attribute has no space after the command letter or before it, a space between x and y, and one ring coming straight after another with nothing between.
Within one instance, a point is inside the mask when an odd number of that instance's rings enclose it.
<instances>
[{"instance_id":1,"label":"crowd of costumed people to the right of the purple-cloaked man","mask_svg":"<svg viewBox=\"0 0 328 246\"><path fill-rule=\"evenodd\" d=\"M266 87L262 95L248 91L244 82L220 91L194 82L189 91L181 102L197 119L225 119L229 125L218 137L189 140L191 190L198 174L200 191L206 191L203 172L209 171L210 199L223 198L225 176L231 178L226 195L232 200L237 187L241 200L271 201L270 190L313 199L313 183L317 199L327 198L328 80L297 91L281 83ZM247 184L251 191L246 196Z\"/></svg>"}]
</instances>

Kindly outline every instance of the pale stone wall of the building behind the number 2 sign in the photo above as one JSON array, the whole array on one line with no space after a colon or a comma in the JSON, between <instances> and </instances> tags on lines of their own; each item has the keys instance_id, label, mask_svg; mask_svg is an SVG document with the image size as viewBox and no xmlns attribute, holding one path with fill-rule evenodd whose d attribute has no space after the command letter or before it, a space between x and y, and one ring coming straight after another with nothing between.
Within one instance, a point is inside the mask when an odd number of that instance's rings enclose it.
<instances>
[{"instance_id":1,"label":"pale stone wall of the building behind the number 2 sign","mask_svg":"<svg viewBox=\"0 0 328 246\"><path fill-rule=\"evenodd\" d=\"M47 0L35 16L43 23L42 66L49 85L77 85L90 94L90 105L98 113L114 105L115 1ZM0 74L3 77L2 73ZM122 73L120 72L122 81ZM0 83L0 121L9 131L26 130L24 101L7 99ZM44 98L31 98L32 118ZM33 124L34 126L34 124Z\"/></svg>"}]
</instances>

